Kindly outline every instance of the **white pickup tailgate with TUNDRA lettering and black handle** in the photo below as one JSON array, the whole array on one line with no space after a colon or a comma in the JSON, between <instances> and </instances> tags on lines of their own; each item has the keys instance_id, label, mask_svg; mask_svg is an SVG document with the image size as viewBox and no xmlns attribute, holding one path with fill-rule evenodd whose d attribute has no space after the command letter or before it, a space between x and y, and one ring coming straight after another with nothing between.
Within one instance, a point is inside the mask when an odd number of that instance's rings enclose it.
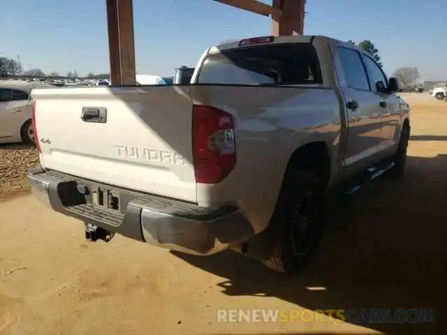
<instances>
[{"instance_id":1,"label":"white pickup tailgate with TUNDRA lettering and black handle","mask_svg":"<svg viewBox=\"0 0 447 335\"><path fill-rule=\"evenodd\" d=\"M46 169L196 202L189 87L35 89Z\"/></svg>"}]
</instances>

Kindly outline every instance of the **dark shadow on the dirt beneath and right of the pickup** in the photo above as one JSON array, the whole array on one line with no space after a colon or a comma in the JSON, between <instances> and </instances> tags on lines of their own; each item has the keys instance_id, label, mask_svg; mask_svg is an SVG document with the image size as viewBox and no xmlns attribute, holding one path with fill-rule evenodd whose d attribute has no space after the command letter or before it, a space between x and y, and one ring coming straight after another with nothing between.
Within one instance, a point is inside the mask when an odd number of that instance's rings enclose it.
<instances>
[{"instance_id":1,"label":"dark shadow on the dirt beneath and right of the pickup","mask_svg":"<svg viewBox=\"0 0 447 335\"><path fill-rule=\"evenodd\" d=\"M218 284L225 295L278 297L313 310L435 308L434 323L358 325L386 334L446 334L440 298L447 296L447 155L409 157L407 164L399 181L383 177L339 200L314 262L298 276L275 274L230 251L175 255L226 278Z\"/></svg>"}]
</instances>

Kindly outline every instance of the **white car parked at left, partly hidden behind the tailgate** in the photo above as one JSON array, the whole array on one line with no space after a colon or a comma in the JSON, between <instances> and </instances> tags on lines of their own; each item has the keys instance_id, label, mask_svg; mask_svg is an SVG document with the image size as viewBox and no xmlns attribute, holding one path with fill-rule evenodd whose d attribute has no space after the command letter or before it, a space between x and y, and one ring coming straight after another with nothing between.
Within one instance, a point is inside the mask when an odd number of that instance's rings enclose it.
<instances>
[{"instance_id":1,"label":"white car parked at left, partly hidden behind the tailgate","mask_svg":"<svg viewBox=\"0 0 447 335\"><path fill-rule=\"evenodd\" d=\"M34 144L31 125L31 91L52 87L38 82L0 81L0 143Z\"/></svg>"}]
</instances>

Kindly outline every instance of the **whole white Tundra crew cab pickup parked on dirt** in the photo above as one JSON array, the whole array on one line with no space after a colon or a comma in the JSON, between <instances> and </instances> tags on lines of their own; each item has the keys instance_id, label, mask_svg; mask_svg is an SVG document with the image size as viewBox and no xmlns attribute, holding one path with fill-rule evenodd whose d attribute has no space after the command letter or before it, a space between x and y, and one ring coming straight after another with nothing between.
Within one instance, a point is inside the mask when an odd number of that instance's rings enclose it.
<instances>
[{"instance_id":1,"label":"whole white Tundra crew cab pickup parked on dirt","mask_svg":"<svg viewBox=\"0 0 447 335\"><path fill-rule=\"evenodd\" d=\"M190 84L35 89L29 180L90 240L231 248L293 273L321 239L330 191L403 173L398 90L367 52L325 36L210 47Z\"/></svg>"}]
</instances>

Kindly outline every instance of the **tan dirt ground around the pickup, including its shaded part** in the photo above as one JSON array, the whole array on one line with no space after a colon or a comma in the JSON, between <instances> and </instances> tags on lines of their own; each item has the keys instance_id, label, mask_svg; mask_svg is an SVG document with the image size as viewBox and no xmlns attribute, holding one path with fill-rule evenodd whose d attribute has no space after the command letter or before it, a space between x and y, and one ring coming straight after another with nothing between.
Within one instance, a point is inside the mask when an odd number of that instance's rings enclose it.
<instances>
[{"instance_id":1,"label":"tan dirt ground around the pickup, including its shaded part","mask_svg":"<svg viewBox=\"0 0 447 335\"><path fill-rule=\"evenodd\" d=\"M406 98L406 175L344 200L299 276L232 252L87 244L79 221L30 196L1 203L0 334L447 334L447 103ZM436 308L437 322L230 324L217 322L218 308Z\"/></svg>"}]
</instances>

